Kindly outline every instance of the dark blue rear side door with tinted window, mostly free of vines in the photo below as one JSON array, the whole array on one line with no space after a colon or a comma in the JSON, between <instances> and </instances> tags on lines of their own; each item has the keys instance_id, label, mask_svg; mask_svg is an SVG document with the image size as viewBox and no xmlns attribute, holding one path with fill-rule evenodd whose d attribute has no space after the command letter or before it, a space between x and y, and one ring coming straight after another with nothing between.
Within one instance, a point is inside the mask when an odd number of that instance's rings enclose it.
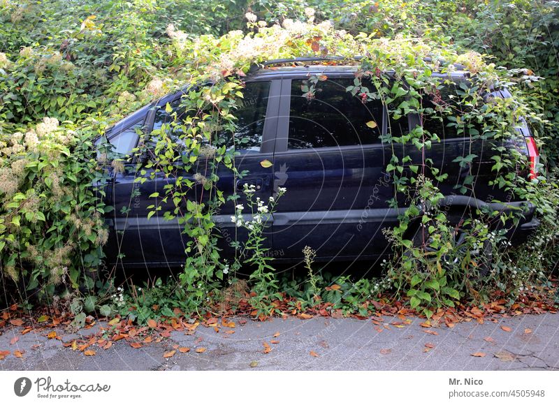
<instances>
[{"instance_id":1,"label":"dark blue rear side door with tinted window, mostly free of vines","mask_svg":"<svg viewBox=\"0 0 559 405\"><path fill-rule=\"evenodd\" d=\"M322 258L387 253L382 228L397 223L398 210L389 207L384 107L347 91L351 73L323 75L314 96L308 79L282 82L274 187L287 191L274 215L274 250L285 258L301 258L305 246Z\"/></svg>"}]
</instances>

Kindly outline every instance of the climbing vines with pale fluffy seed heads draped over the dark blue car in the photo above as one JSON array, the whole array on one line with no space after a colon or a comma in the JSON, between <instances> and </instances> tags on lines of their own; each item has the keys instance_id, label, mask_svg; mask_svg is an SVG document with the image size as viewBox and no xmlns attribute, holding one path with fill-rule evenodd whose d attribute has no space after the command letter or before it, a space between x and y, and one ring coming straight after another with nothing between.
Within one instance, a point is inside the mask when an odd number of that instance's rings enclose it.
<instances>
[{"instance_id":1,"label":"climbing vines with pale fluffy seed heads draped over the dark blue car","mask_svg":"<svg viewBox=\"0 0 559 405\"><path fill-rule=\"evenodd\" d=\"M500 249L504 233L514 226L522 211L495 212L490 209L490 203L499 200L495 198L486 201L484 207L468 208L471 218L465 216L468 219L456 222L464 212L447 209L447 192L439 189L447 173L444 168L437 168L429 157L429 151L444 134L430 133L421 125L405 133L391 129L398 119L409 114L416 115L420 123L446 117L459 135L483 140L493 154L491 182L495 189L511 196L512 201L529 198L539 202L539 216L544 219L546 232L557 233L556 208L552 202L559 198L556 186L544 172L537 179L529 179L525 172L528 162L522 154L510 152L514 148L505 145L524 142L518 126L525 122L545 124L524 101L518 87L523 78L513 71L486 64L480 54L461 52L449 43L403 36L387 39L374 34L351 35L335 30L330 22L314 24L311 10L308 14L307 22L284 20L281 25L268 25L247 13L247 34L239 30L220 37L204 34L193 38L170 24L166 28L170 43L165 48L166 64L172 66L173 76L158 77L157 71L151 71L149 82L143 77L147 83L143 97L161 96L166 91L187 87L180 101L185 114L175 115L170 123L141 135L140 144L132 152L135 166L124 165L131 156L103 155L102 161L99 156L93 159L92 138L82 140L81 127L59 129L57 121L51 118L35 129L29 126L22 128L22 132L6 135L0 145L2 153L8 156L1 161L0 172L2 274L14 280L29 273L40 274L27 288L39 280L52 286L51 290L68 281L74 290L78 287L80 271L95 267L102 259L101 246L106 241L107 230L101 216L109 208L103 207L90 185L100 180L92 173L103 173L103 165L110 165L110 170L131 170L138 184L156 177L167 181L163 192L149 196L152 204L147 218L178 221L187 236L187 259L173 288L173 294L179 297L176 302L180 302L184 311L212 309L228 294L224 285L233 288L240 283L238 272L244 266L250 269L248 291L240 288L237 293L248 294L255 316L277 313L274 302L282 297L286 283L275 274L273 260L261 242L268 214L273 212L276 203L282 203L279 197L285 194L282 198L289 198L289 189L276 191L270 201L253 201L249 190L226 196L217 184L224 170L232 172L235 179L247 175L235 168L238 159L235 111L242 103L244 80L250 69L270 59L333 55L339 59L324 63L356 66L354 85L347 91L365 104L380 99L388 106L389 131L383 135L382 142L393 151L385 168L394 184L391 207L407 208L400 215L399 225L385 230L395 258L386 264L386 275L378 283L369 280L351 283L344 279L343 283L331 281L331 286L321 286L321 278L313 272L312 249L316 246L308 246L305 272L312 279L312 295L307 301L331 302L331 309L347 305L368 314L370 302L382 290L391 290L395 299L409 302L412 308L430 317L434 311L455 307L463 299L484 302L498 291L514 300L522 288L530 288L535 267L523 263L517 271L503 265L515 253ZM93 18L84 24L84 31L94 29ZM24 57L32 56L34 63L43 60L31 50L25 54L20 55L17 64L24 64ZM356 55L361 58L355 59ZM17 68L21 73L19 65L8 57L4 59L0 59L2 68L8 71ZM45 69L67 65L59 57L51 59L43 61ZM455 85L451 81L458 64L470 71L469 84ZM326 74L309 78L301 96L308 100L319 98L317 89L326 80ZM451 87L450 96L442 96L444 87ZM491 96L500 88L506 88L514 98ZM122 91L118 100L136 101L136 96ZM60 101L62 105L67 102ZM170 105L166 110L173 111ZM15 106L10 114L16 113L22 115L24 111ZM21 121L29 119L25 115ZM375 123L367 125L372 127ZM68 128L71 127L68 123ZM76 132L68 132L74 129ZM32 134L38 132L43 138L39 139L41 147L37 154L34 149L37 141ZM82 130L89 136L92 132L91 128L89 132ZM89 151L87 154L83 152L85 149ZM413 152L403 152L410 149ZM87 159L82 159L84 156ZM456 196L472 191L477 158L473 151L465 151L454 162L464 174L452 191ZM274 163L261 164L273 166ZM181 175L184 171L191 176ZM66 186L66 182L71 184ZM235 226L249 231L248 242L235 244L238 252L235 258L224 257L217 244L222 235L215 218L228 202L237 207L232 219ZM252 209L250 219L242 216L245 205ZM41 209L37 209L39 206ZM76 207L75 212L68 207ZM48 227L43 223L48 223ZM61 240L61 235L71 235L70 240ZM523 272L523 277L516 277L518 272ZM358 294L361 300L352 294ZM103 311L120 312L123 316L132 312L144 320L153 315L152 309L143 311L144 307L138 295L132 307L113 303ZM171 313L167 308L164 316Z\"/></svg>"}]
</instances>

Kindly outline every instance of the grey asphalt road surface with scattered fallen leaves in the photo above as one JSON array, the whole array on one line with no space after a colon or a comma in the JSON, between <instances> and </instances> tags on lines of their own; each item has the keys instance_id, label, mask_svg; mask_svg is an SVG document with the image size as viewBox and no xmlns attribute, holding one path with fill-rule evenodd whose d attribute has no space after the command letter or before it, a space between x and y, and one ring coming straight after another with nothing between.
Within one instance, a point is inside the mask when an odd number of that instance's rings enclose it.
<instances>
[{"instance_id":1,"label":"grey asphalt road surface with scattered fallen leaves","mask_svg":"<svg viewBox=\"0 0 559 405\"><path fill-rule=\"evenodd\" d=\"M0 360L1 370L527 370L559 369L559 314L526 315L421 327L425 321L385 317L380 325L356 319L316 317L275 318L257 322L235 321L235 332L219 333L198 326L194 334L171 332L170 338L141 348L115 342L111 348L95 348L86 356L64 348L79 335L58 330L61 340L48 339L48 330L21 334L21 327L5 327L0 351L23 351ZM505 327L504 330L502 327ZM507 332L508 328L510 331ZM380 330L380 332L379 332ZM430 330L430 333L426 331ZM435 334L436 332L436 334ZM10 344L14 337L17 341ZM266 351L264 343L271 351ZM173 346L188 353L164 358ZM196 353L196 348L205 348ZM474 357L478 353L482 357Z\"/></svg>"}]
</instances>

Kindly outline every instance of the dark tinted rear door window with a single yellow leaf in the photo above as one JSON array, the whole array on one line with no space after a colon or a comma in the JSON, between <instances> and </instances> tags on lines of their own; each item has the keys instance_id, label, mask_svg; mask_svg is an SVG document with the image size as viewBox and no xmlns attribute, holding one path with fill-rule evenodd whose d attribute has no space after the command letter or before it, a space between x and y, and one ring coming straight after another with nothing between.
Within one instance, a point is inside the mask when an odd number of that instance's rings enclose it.
<instances>
[{"instance_id":1,"label":"dark tinted rear door window with a single yellow leaf","mask_svg":"<svg viewBox=\"0 0 559 405\"><path fill-rule=\"evenodd\" d=\"M353 85L353 79L319 81L314 96L308 97L303 91L307 80L293 80L287 149L380 143L382 103L362 103L346 90Z\"/></svg>"}]
</instances>

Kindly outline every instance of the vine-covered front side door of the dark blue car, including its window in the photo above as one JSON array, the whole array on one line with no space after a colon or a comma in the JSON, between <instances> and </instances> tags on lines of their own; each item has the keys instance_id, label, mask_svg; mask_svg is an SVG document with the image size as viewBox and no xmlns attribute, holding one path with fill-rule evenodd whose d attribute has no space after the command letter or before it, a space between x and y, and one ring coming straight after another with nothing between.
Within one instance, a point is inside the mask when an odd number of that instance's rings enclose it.
<instances>
[{"instance_id":1,"label":"vine-covered front side door of the dark blue car, including its window","mask_svg":"<svg viewBox=\"0 0 559 405\"><path fill-rule=\"evenodd\" d=\"M225 168L224 165L217 165L216 174L219 177L217 189L223 191L226 197L238 193L245 183L255 185L255 197L267 199L272 195L273 169L261 165L261 161L273 159L276 125L274 117L277 115L279 101L270 102L274 99L270 94L275 87L279 89L279 86L279 81L275 84L271 80L247 82L242 91L245 98L239 110L235 112L235 117L238 117L238 129L234 135L224 131L215 137L227 148L235 147L238 152L234 159L235 167L239 172L247 173L240 179L233 175L231 169ZM170 137L178 135L174 132L176 128L173 128L171 123L184 117L184 110L181 110L182 94L163 98L154 105L145 124L147 133L155 134L156 138L158 131L166 131ZM154 140L152 137L150 145L147 145L148 152L154 147L155 141L157 139ZM210 149L221 145L206 146ZM115 173L112 187L115 206L113 220L118 249L123 253L119 258L122 264L175 266L184 263L187 258L185 249L188 242L188 237L183 232L184 225L179 223L178 217L171 220L164 218L165 212L175 208L173 202L157 200L157 197L149 198L149 196L157 193L159 196L164 196L166 186L173 184L176 177L181 176L196 183L196 186L188 191L187 199L198 202L207 200L209 193L204 191L203 178L209 175L208 163L212 159L214 157L211 154L199 157L190 168L179 163L175 176L143 168L138 165L138 161L129 162L124 170ZM138 181L138 177L144 179ZM238 203L242 203L242 198L237 202L227 201L215 216L215 223L222 234L219 248L222 249L225 257L235 255L231 242L243 238L243 233L235 227L235 223L231 222L235 204ZM154 204L161 208L148 218L148 213L152 210L148 207Z\"/></svg>"}]
</instances>

